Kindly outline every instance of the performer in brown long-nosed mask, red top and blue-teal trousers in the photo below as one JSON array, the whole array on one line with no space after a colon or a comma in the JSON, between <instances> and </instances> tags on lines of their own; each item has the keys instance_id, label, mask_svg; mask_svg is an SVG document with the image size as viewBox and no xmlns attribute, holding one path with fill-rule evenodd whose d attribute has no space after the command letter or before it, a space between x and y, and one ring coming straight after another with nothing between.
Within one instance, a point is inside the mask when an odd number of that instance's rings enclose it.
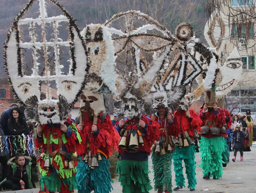
<instances>
[{"instance_id":1,"label":"performer in brown long-nosed mask, red top and blue-teal trousers","mask_svg":"<svg viewBox=\"0 0 256 193\"><path fill-rule=\"evenodd\" d=\"M79 154L77 189L79 193L107 193L113 190L108 157L117 149L119 134L105 115L103 94L85 91L81 95L81 119L77 126L82 132L85 154Z\"/></svg>"}]
</instances>

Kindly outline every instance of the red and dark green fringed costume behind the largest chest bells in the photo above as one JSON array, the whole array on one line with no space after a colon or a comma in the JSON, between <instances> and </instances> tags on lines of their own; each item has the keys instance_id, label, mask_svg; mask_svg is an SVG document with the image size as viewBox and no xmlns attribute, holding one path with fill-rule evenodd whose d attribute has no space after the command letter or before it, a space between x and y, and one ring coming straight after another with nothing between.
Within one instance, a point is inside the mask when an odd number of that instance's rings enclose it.
<instances>
[{"instance_id":1,"label":"red and dark green fringed costume behind the largest chest bells","mask_svg":"<svg viewBox=\"0 0 256 193\"><path fill-rule=\"evenodd\" d=\"M139 119L125 120L125 126L116 130L122 136L123 131L127 131L126 151L119 148L120 160L116 166L116 173L119 174L119 182L121 182L123 193L148 192L152 189L148 178L148 155L151 152L151 143L159 139L160 130L156 121L151 120L148 116L142 115L141 120L145 122L145 128L138 128ZM139 144L138 152L128 148L132 130L141 133L144 146ZM139 140L139 136L138 136Z\"/></svg>"}]
</instances>

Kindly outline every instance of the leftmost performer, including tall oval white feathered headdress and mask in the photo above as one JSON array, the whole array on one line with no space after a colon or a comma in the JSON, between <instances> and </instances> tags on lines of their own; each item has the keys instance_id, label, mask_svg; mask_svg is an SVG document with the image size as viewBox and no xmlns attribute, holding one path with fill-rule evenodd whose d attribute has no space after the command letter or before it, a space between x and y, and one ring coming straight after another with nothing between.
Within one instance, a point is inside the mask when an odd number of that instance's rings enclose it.
<instances>
[{"instance_id":1,"label":"leftmost performer, including tall oval white feathered headdress and mask","mask_svg":"<svg viewBox=\"0 0 256 193\"><path fill-rule=\"evenodd\" d=\"M35 139L36 147L42 149L38 159L41 174L39 191L49 193L57 190L70 193L76 188L76 165L80 161L74 153L84 149L76 126L73 122L64 121L86 84L90 64L87 63L84 40L75 20L60 3L50 2L62 11L61 17L47 17L45 0L30 1L17 15L4 45L4 65L14 94L21 104L26 105L26 118L38 122L39 125ZM38 17L23 20L23 15L33 3L40 5ZM35 33L37 22L41 23L40 35ZM61 37L69 41L61 41L61 44L69 48L69 73L63 72L64 65L61 64L59 56L58 36L63 31L58 27L61 22L68 23L68 33L64 33L66 37L64 34ZM23 25L29 26L29 34L23 34L20 30ZM46 35L46 28L49 27L53 28L51 40L47 40ZM30 38L29 42L24 43L25 35ZM52 64L48 60L50 47L54 48ZM23 50L26 49L31 49L32 56L24 56ZM44 54L42 63L38 61L38 50L42 50ZM32 66L24 66L31 58ZM39 65L44 71L40 70ZM31 73L25 68L31 69ZM56 88L58 97L51 95L53 87ZM45 93L45 96L41 97L41 93Z\"/></svg>"}]
</instances>

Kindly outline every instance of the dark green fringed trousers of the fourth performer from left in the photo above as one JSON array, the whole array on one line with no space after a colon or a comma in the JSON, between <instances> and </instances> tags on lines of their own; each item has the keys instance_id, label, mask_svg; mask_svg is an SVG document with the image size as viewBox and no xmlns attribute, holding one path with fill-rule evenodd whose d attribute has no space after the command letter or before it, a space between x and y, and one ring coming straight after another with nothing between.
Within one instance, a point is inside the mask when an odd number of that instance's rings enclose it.
<instances>
[{"instance_id":1,"label":"dark green fringed trousers of the fourth performer from left","mask_svg":"<svg viewBox=\"0 0 256 193\"><path fill-rule=\"evenodd\" d=\"M155 190L172 192L172 155L173 153L164 155L152 153Z\"/></svg>"}]
</instances>

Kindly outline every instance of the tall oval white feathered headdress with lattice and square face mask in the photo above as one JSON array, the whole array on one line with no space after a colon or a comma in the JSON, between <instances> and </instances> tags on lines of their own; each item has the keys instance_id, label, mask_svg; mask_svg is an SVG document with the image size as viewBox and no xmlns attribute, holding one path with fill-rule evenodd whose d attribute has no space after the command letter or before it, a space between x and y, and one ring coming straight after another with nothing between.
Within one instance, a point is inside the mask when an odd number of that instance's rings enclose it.
<instances>
[{"instance_id":1,"label":"tall oval white feathered headdress with lattice and square face mask","mask_svg":"<svg viewBox=\"0 0 256 193\"><path fill-rule=\"evenodd\" d=\"M39 5L38 18L22 18L32 4L36 2ZM75 20L59 3L54 0L49 0L49 2L57 6L63 14L47 17L46 1L30 0L13 20L4 45L4 68L13 92L22 104L26 104L25 114L27 118L41 124L47 123L49 119L53 123L63 122L66 119L81 93L89 69L85 43ZM58 30L61 23L68 23L67 41L59 38L59 34L63 33L62 30ZM21 28L29 28L29 34L26 34L26 37L29 37L30 41L23 42L25 34ZM49 28L53 30L52 38L47 38ZM36 30L40 34L35 33ZM60 60L61 47L69 48L70 70L67 75L62 71L64 65L61 64L62 61ZM49 48L53 48L53 55L49 54ZM32 56L25 57L24 49L31 51ZM43 57L39 56L39 51L43 53ZM26 75L23 64L29 62L31 57L33 59L32 74ZM39 62L39 57L43 58L44 62ZM48 62L49 57L54 57L52 67ZM44 67L41 73L39 73L39 66ZM55 85L50 85L52 82ZM41 98L42 85L45 88L44 94L46 96L44 99ZM56 87L57 99L52 96L52 87Z\"/></svg>"}]
</instances>

